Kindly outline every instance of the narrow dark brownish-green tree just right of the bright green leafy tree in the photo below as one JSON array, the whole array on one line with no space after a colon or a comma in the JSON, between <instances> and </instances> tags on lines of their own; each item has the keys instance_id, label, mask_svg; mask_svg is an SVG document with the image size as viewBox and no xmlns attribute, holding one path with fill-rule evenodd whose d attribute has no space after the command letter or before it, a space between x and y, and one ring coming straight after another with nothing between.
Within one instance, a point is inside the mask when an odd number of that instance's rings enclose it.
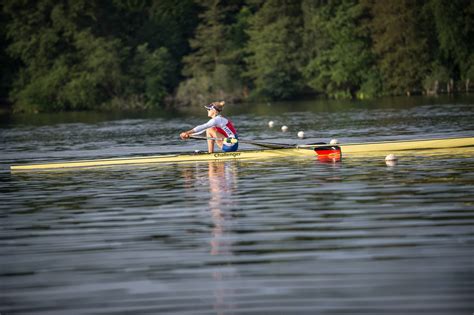
<instances>
[{"instance_id":1,"label":"narrow dark brownish-green tree just right of the bright green leafy tree","mask_svg":"<svg viewBox=\"0 0 474 315\"><path fill-rule=\"evenodd\" d=\"M371 9L373 50L388 94L421 91L429 56L427 37L418 27L420 0L362 0Z\"/></svg>"}]
</instances>

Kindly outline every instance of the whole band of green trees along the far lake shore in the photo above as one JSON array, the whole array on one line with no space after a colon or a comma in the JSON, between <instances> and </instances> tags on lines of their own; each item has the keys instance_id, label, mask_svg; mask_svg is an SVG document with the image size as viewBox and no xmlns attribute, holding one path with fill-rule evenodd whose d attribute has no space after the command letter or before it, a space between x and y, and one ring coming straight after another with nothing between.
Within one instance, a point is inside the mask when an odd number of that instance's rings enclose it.
<instances>
[{"instance_id":1,"label":"whole band of green trees along the far lake shore","mask_svg":"<svg viewBox=\"0 0 474 315\"><path fill-rule=\"evenodd\" d=\"M17 112L468 91L471 0L4 0Z\"/></svg>"}]
</instances>

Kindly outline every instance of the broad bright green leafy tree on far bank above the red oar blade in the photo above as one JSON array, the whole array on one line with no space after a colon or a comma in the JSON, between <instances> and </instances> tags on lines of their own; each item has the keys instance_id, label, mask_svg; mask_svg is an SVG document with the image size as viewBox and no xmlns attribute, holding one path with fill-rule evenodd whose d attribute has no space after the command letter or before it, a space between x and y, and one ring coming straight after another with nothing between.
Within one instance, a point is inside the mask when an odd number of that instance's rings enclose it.
<instances>
[{"instance_id":1,"label":"broad bright green leafy tree on far bank above the red oar blade","mask_svg":"<svg viewBox=\"0 0 474 315\"><path fill-rule=\"evenodd\" d=\"M336 98L376 96L380 83L364 29L365 8L355 0L306 2L305 34L311 40L304 50L313 52L305 67L308 85Z\"/></svg>"}]
</instances>

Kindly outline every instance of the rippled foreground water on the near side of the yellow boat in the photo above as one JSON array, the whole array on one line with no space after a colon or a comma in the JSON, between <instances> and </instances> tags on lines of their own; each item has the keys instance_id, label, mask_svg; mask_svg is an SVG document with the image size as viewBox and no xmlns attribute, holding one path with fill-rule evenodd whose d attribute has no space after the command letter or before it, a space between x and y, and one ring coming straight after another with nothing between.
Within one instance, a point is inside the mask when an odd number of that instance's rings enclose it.
<instances>
[{"instance_id":1,"label":"rippled foreground water on the near side of the yellow boat","mask_svg":"<svg viewBox=\"0 0 474 315\"><path fill-rule=\"evenodd\" d=\"M2 310L463 314L473 175L471 153L1 174Z\"/></svg>"}]
</instances>

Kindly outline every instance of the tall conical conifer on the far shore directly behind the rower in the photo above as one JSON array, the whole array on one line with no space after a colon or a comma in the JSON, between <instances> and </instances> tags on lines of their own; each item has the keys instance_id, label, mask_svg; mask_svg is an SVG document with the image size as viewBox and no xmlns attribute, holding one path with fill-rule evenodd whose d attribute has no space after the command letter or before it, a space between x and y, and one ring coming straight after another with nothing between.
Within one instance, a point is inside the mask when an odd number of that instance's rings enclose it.
<instances>
[{"instance_id":1,"label":"tall conical conifer on the far shore directly behind the rower","mask_svg":"<svg viewBox=\"0 0 474 315\"><path fill-rule=\"evenodd\" d=\"M244 43L237 43L230 35L241 36L245 14L240 12L238 1L196 2L203 11L195 36L190 39L192 52L183 58L187 79L180 84L177 99L191 104L202 104L211 98L238 100L243 91L239 65Z\"/></svg>"}]
</instances>

